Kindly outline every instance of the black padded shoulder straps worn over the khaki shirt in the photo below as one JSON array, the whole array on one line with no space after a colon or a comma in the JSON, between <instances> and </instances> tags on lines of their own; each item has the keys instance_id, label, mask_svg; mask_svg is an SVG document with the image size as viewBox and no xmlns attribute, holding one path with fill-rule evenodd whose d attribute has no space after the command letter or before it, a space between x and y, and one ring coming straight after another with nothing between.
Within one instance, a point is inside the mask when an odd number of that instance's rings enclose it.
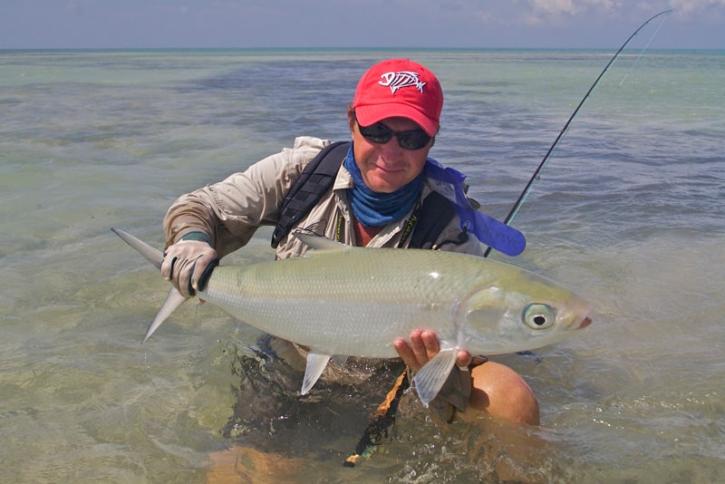
<instances>
[{"instance_id":1,"label":"black padded shoulder straps worn over the khaki shirt","mask_svg":"<svg viewBox=\"0 0 725 484\"><path fill-rule=\"evenodd\" d=\"M300 178L287 192L279 206L277 224L272 233L272 247L289 234L293 227L323 198L332 188L337 172L343 163L350 141L337 141L324 147L304 168ZM401 245L410 237L411 248L432 248L436 239L450 220L456 215L453 203L436 191L413 209L410 220L403 229ZM462 243L468 239L465 230L461 233Z\"/></svg>"}]
</instances>

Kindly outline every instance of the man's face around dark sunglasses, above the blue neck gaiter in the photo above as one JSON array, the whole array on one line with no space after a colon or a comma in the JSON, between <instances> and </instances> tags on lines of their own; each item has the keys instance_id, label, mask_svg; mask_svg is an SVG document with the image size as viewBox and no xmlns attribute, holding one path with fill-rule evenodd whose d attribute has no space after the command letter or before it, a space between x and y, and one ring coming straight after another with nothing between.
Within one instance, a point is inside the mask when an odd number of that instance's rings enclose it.
<instances>
[{"instance_id":1,"label":"man's face around dark sunglasses, above the blue neck gaiter","mask_svg":"<svg viewBox=\"0 0 725 484\"><path fill-rule=\"evenodd\" d=\"M396 132L420 130L417 123L407 118L387 118L380 122ZM375 143L362 136L354 119L350 120L350 131L362 180L377 193L391 193L420 175L433 144L431 140L420 150L405 150L395 136L386 143Z\"/></svg>"}]
</instances>

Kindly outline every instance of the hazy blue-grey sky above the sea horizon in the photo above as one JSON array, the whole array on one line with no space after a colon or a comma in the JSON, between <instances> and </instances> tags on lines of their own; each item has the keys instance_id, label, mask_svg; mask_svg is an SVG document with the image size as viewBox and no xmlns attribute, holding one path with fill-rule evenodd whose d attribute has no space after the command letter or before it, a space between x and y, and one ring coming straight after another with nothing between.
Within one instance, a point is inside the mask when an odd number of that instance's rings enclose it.
<instances>
[{"instance_id":1,"label":"hazy blue-grey sky above the sea horizon","mask_svg":"<svg viewBox=\"0 0 725 484\"><path fill-rule=\"evenodd\" d=\"M617 48L667 9L651 48L725 49L725 0L0 0L0 49Z\"/></svg>"}]
</instances>

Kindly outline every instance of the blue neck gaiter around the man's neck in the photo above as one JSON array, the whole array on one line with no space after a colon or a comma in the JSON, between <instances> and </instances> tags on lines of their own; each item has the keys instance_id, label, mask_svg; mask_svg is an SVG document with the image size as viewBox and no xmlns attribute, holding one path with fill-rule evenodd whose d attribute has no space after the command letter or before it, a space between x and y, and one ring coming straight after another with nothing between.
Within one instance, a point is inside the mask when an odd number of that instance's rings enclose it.
<instances>
[{"instance_id":1,"label":"blue neck gaiter around the man's neck","mask_svg":"<svg viewBox=\"0 0 725 484\"><path fill-rule=\"evenodd\" d=\"M425 171L407 185L392 193L377 193L365 185L360 169L355 163L353 145L347 151L343 163L353 177L354 186L348 190L353 215L363 227L384 227L407 214L420 197Z\"/></svg>"}]
</instances>

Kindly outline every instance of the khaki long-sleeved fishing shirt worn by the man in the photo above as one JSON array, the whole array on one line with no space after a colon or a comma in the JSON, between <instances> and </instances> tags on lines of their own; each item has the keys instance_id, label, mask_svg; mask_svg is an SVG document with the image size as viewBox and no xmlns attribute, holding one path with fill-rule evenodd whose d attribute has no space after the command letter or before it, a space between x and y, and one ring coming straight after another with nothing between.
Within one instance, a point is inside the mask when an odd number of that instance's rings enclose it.
<instances>
[{"instance_id":1,"label":"khaki long-sleeved fishing shirt worn by the man","mask_svg":"<svg viewBox=\"0 0 725 484\"><path fill-rule=\"evenodd\" d=\"M279 206L287 192L299 179L304 167L328 144L329 140L299 137L295 139L293 148L285 148L243 172L178 198L164 218L167 247L193 231L203 232L210 237L219 258L244 247L257 228L276 225ZM333 189L320 199L296 228L311 230L317 235L356 246L352 209L347 200L347 189L352 187L353 179L342 166L341 160ZM449 184L428 178L423 184L421 199L432 190L451 201L456 200ZM407 247L410 237L403 244L401 239L411 213L412 209L405 217L383 227L367 247ZM459 225L458 216L452 218L433 248L482 257L483 249L478 238L469 234L461 241ZM294 231L295 227L290 235L280 241L276 258L302 256L307 250L307 246L291 235ZM452 372L439 396L465 410L469 393L469 373Z\"/></svg>"}]
</instances>

